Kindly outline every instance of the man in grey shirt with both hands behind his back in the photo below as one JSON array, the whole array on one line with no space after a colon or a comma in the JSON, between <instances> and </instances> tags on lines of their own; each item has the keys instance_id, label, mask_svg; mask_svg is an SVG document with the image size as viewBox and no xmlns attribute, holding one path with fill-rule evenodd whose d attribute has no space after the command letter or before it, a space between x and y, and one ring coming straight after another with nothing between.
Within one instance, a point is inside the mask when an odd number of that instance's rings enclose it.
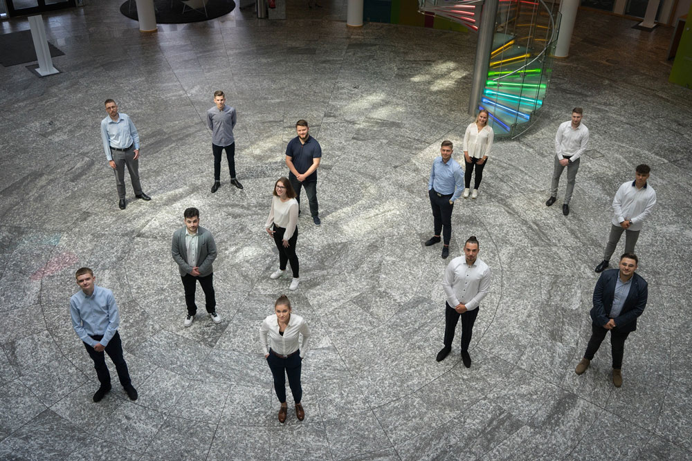
<instances>
[{"instance_id":1,"label":"man in grey shirt with both hands behind his back","mask_svg":"<svg viewBox=\"0 0 692 461\"><path fill-rule=\"evenodd\" d=\"M212 131L212 151L214 152L214 185L212 194L221 187L221 154L226 149L230 183L238 189L243 185L235 178L235 138L233 128L237 117L235 108L226 106L226 95L223 91L214 92L214 107L207 111L207 126Z\"/></svg>"}]
</instances>

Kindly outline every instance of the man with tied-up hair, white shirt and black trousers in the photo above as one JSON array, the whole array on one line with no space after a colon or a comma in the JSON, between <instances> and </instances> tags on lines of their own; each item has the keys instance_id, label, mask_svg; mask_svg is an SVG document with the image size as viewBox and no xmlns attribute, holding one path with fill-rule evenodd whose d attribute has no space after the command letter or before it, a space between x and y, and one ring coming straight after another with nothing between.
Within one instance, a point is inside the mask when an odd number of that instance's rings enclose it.
<instances>
[{"instance_id":1,"label":"man with tied-up hair, white shirt and black trousers","mask_svg":"<svg viewBox=\"0 0 692 461\"><path fill-rule=\"evenodd\" d=\"M454 258L442 276L442 288L446 296L444 348L437 353L437 361L443 361L452 350L454 330L461 317L462 361L466 368L471 368L468 344L471 344L471 332L478 315L478 306L488 294L491 279L490 267L478 259L478 240L471 236L464 244L464 256Z\"/></svg>"}]
</instances>

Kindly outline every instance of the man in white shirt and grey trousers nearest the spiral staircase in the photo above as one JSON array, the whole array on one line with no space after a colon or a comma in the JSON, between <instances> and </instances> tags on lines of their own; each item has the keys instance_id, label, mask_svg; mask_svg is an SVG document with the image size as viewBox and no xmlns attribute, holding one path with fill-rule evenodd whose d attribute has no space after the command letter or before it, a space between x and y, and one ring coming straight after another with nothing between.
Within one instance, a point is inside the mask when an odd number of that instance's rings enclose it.
<instances>
[{"instance_id":1,"label":"man in white shirt and grey trousers nearest the spiral staircase","mask_svg":"<svg viewBox=\"0 0 692 461\"><path fill-rule=\"evenodd\" d=\"M563 202L563 214L570 214L570 200L576 183L576 172L579 171L579 159L589 142L589 129L581 122L584 110L581 107L572 109L572 120L564 122L555 135L555 167L550 184L550 198L545 202L549 207L558 195L558 185L563 169L567 167L567 191Z\"/></svg>"}]
</instances>

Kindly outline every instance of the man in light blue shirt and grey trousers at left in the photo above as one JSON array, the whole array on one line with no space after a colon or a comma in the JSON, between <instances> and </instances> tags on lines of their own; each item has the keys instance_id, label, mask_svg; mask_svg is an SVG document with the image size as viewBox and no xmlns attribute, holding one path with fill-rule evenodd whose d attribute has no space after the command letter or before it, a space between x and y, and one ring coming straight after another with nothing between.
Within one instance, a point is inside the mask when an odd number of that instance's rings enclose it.
<instances>
[{"instance_id":1,"label":"man in light blue shirt and grey trousers at left","mask_svg":"<svg viewBox=\"0 0 692 461\"><path fill-rule=\"evenodd\" d=\"M118 113L118 105L106 100L108 117L101 120L101 141L108 164L116 173L118 187L118 207L125 209L125 165L130 173L134 196L142 200L152 200L142 191L139 182L139 133L134 123L125 113Z\"/></svg>"}]
</instances>

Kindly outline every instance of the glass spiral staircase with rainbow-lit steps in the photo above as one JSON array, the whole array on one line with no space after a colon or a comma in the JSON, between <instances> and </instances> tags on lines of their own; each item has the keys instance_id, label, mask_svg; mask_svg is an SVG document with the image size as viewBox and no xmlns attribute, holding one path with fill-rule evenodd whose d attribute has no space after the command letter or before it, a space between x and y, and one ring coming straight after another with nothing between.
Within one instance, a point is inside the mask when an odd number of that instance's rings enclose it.
<instances>
[{"instance_id":1,"label":"glass spiral staircase with rainbow-lit steps","mask_svg":"<svg viewBox=\"0 0 692 461\"><path fill-rule=\"evenodd\" d=\"M487 8L484 2L495 2ZM419 0L419 11L491 39L477 48L470 111L488 111L496 138L515 138L536 121L547 90L560 15L554 0ZM480 43L480 39L479 39ZM480 66L480 68L479 68Z\"/></svg>"}]
</instances>

